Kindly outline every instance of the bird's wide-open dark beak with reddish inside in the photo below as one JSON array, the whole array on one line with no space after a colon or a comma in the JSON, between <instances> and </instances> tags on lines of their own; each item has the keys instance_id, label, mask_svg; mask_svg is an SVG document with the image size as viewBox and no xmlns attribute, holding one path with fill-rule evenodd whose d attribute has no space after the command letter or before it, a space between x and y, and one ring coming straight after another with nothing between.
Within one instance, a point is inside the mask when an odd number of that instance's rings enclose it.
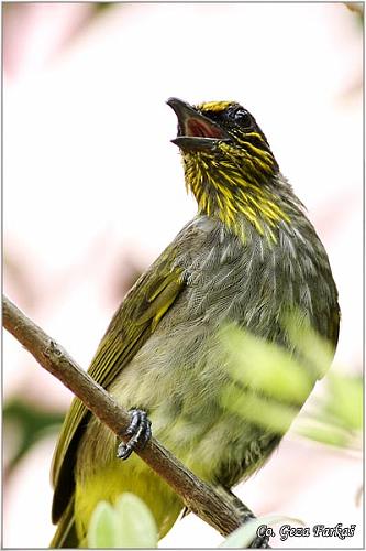
<instances>
[{"instance_id":1,"label":"bird's wide-open dark beak with reddish inside","mask_svg":"<svg viewBox=\"0 0 366 551\"><path fill-rule=\"evenodd\" d=\"M228 141L229 136L215 122L198 112L178 98L169 98L167 104L178 118L178 136L173 143L185 151L212 150L218 141Z\"/></svg>"}]
</instances>

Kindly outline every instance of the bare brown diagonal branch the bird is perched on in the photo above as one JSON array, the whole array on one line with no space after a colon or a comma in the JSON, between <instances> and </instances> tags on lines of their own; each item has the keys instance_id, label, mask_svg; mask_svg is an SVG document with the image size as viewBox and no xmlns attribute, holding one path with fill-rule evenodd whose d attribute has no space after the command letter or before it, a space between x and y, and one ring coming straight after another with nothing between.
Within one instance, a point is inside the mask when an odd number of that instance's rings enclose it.
<instances>
[{"instance_id":1,"label":"bare brown diagonal branch the bird is perched on","mask_svg":"<svg viewBox=\"0 0 366 551\"><path fill-rule=\"evenodd\" d=\"M3 325L44 369L57 377L95 415L123 439L130 422L127 412L62 346L7 298L3 298ZM246 518L253 518L249 509L239 499L233 503L229 494L221 494L200 480L155 439L151 439L144 450L136 453L171 486L191 511L222 536L239 528Z\"/></svg>"}]
</instances>

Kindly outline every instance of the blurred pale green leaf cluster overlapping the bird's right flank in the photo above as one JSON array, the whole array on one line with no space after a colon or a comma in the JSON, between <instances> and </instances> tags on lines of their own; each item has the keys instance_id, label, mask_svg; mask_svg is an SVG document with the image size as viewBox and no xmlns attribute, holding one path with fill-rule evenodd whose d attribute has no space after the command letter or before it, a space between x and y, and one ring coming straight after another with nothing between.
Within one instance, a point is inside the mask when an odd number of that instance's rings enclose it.
<instances>
[{"instance_id":1,"label":"blurred pale green leaf cluster overlapping the bird's right flank","mask_svg":"<svg viewBox=\"0 0 366 551\"><path fill-rule=\"evenodd\" d=\"M282 323L295 355L233 324L220 333L223 361L231 376L220 397L222 407L279 434L287 432L333 357L332 345L300 312L289 314ZM357 449L363 423L361 377L331 371L322 385L325 392L312 400L312 410L300 413L292 430L324 444Z\"/></svg>"}]
</instances>

